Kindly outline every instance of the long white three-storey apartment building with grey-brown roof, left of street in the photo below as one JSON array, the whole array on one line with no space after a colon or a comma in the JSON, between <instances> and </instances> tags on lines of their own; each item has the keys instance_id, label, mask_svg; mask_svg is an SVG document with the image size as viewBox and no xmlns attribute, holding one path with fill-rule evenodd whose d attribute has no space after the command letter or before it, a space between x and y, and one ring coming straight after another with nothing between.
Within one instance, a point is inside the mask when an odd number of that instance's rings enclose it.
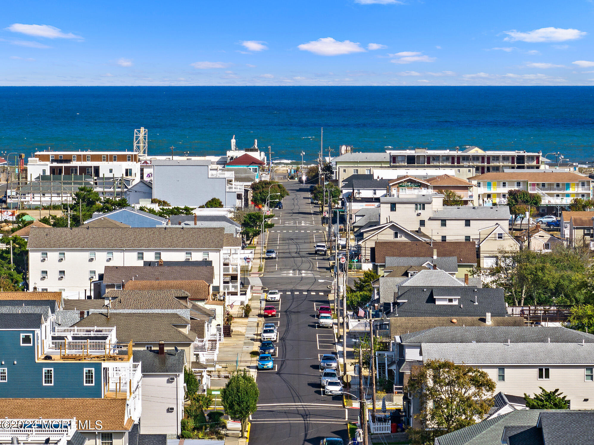
<instances>
[{"instance_id":1,"label":"long white three-storey apartment building with grey-brown roof, left of street","mask_svg":"<svg viewBox=\"0 0 594 445\"><path fill-rule=\"evenodd\" d=\"M144 261L212 261L220 293L239 292L241 239L223 228L32 228L29 285L89 298L105 266L144 266Z\"/></svg>"}]
</instances>

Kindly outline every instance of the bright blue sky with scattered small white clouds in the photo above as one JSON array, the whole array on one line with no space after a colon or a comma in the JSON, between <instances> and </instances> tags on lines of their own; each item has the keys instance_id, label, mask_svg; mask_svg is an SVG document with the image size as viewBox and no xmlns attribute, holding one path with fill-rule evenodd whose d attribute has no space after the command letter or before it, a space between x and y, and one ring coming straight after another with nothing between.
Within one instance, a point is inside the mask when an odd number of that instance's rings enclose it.
<instances>
[{"instance_id":1,"label":"bright blue sky with scattered small white clouds","mask_svg":"<svg viewBox=\"0 0 594 445\"><path fill-rule=\"evenodd\" d=\"M4 2L0 85L594 85L589 0Z\"/></svg>"}]
</instances>

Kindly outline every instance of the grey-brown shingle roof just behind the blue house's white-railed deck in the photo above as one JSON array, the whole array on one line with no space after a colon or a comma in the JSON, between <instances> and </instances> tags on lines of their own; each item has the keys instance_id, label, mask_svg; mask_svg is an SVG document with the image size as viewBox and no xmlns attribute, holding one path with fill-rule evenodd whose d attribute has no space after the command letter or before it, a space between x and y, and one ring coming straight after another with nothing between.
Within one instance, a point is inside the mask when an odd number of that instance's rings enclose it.
<instances>
[{"instance_id":1,"label":"grey-brown shingle roof just behind the blue house's white-railed deck","mask_svg":"<svg viewBox=\"0 0 594 445\"><path fill-rule=\"evenodd\" d=\"M118 343L130 340L139 343L192 343L196 334L184 334L174 324L189 324L189 320L178 314L122 314L93 313L74 324L81 327L116 327Z\"/></svg>"}]
</instances>

